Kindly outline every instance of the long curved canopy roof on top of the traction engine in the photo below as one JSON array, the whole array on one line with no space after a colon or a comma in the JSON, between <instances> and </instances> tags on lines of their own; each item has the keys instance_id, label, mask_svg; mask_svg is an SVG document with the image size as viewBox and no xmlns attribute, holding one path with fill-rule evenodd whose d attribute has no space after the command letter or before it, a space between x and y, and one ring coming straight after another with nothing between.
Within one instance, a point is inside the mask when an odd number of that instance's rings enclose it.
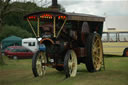
<instances>
[{"instance_id":1,"label":"long curved canopy roof on top of the traction engine","mask_svg":"<svg viewBox=\"0 0 128 85\"><path fill-rule=\"evenodd\" d=\"M96 21L96 22L103 22L105 21L104 17L90 15L90 14L82 14L82 13L69 13L69 12L58 12L58 11L41 11L41 12L34 12L24 16L27 19L30 16L41 16L42 14L51 14L52 16L66 16L67 20L73 21Z\"/></svg>"}]
</instances>

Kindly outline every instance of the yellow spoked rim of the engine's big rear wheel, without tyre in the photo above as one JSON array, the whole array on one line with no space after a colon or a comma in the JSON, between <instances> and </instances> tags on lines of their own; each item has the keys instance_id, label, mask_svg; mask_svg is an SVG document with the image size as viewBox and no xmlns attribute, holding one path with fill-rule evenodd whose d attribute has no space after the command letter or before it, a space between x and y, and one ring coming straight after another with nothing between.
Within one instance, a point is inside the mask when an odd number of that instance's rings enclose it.
<instances>
[{"instance_id":1,"label":"yellow spoked rim of the engine's big rear wheel, without tyre","mask_svg":"<svg viewBox=\"0 0 128 85\"><path fill-rule=\"evenodd\" d=\"M93 56L93 64L96 71L101 68L103 54L102 54L102 43L99 36L96 36L94 39L93 47L92 47L92 56Z\"/></svg>"}]
</instances>

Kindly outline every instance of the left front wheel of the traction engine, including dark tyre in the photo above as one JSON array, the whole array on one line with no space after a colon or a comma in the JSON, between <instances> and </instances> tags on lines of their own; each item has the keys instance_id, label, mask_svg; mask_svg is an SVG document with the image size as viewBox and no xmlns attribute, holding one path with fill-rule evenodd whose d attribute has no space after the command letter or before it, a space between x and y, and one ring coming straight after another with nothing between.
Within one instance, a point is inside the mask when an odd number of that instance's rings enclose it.
<instances>
[{"instance_id":1,"label":"left front wheel of the traction engine, including dark tyre","mask_svg":"<svg viewBox=\"0 0 128 85\"><path fill-rule=\"evenodd\" d=\"M43 76L46 73L46 56L45 52L37 51L32 58L32 71L35 77Z\"/></svg>"}]
</instances>

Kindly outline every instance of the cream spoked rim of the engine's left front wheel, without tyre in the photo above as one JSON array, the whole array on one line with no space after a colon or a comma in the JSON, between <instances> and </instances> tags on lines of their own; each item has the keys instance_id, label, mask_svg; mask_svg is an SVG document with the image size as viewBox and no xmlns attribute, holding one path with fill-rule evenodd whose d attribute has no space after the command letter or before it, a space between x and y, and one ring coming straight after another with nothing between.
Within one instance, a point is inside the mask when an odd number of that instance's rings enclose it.
<instances>
[{"instance_id":1,"label":"cream spoked rim of the engine's left front wheel, without tyre","mask_svg":"<svg viewBox=\"0 0 128 85\"><path fill-rule=\"evenodd\" d=\"M37 56L36 69L39 76L46 74L46 56L44 52L40 52Z\"/></svg>"}]
</instances>

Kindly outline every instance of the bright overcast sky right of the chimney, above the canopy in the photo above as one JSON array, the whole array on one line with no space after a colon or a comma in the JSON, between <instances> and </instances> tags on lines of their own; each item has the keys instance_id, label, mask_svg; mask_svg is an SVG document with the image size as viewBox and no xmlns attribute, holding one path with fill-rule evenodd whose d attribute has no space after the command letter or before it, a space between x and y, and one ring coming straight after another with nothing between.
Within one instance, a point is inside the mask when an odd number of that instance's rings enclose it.
<instances>
[{"instance_id":1,"label":"bright overcast sky right of the chimney, above the canopy","mask_svg":"<svg viewBox=\"0 0 128 85\"><path fill-rule=\"evenodd\" d=\"M58 0L67 11L127 16L128 0Z\"/></svg>"}]
</instances>

